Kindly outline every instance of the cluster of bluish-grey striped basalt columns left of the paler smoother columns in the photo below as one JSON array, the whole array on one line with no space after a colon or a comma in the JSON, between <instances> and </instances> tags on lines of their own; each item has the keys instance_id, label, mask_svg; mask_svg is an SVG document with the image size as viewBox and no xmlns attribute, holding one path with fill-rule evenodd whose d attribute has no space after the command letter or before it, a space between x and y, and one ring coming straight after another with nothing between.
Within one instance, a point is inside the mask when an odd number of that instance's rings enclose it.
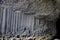
<instances>
[{"instance_id":1,"label":"cluster of bluish-grey striped basalt columns left of the paler smoother columns","mask_svg":"<svg viewBox=\"0 0 60 40\"><path fill-rule=\"evenodd\" d=\"M22 14L10 8L0 8L0 33L12 35L20 32Z\"/></svg>"}]
</instances>

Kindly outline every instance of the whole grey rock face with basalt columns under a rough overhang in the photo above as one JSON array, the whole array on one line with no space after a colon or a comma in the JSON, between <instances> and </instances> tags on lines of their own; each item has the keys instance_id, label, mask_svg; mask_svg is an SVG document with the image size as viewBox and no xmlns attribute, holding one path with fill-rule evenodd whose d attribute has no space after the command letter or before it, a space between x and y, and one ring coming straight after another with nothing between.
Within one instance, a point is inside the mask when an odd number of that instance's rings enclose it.
<instances>
[{"instance_id":1,"label":"whole grey rock face with basalt columns under a rough overhang","mask_svg":"<svg viewBox=\"0 0 60 40\"><path fill-rule=\"evenodd\" d=\"M58 0L1 0L2 36L54 36L59 16Z\"/></svg>"}]
</instances>

